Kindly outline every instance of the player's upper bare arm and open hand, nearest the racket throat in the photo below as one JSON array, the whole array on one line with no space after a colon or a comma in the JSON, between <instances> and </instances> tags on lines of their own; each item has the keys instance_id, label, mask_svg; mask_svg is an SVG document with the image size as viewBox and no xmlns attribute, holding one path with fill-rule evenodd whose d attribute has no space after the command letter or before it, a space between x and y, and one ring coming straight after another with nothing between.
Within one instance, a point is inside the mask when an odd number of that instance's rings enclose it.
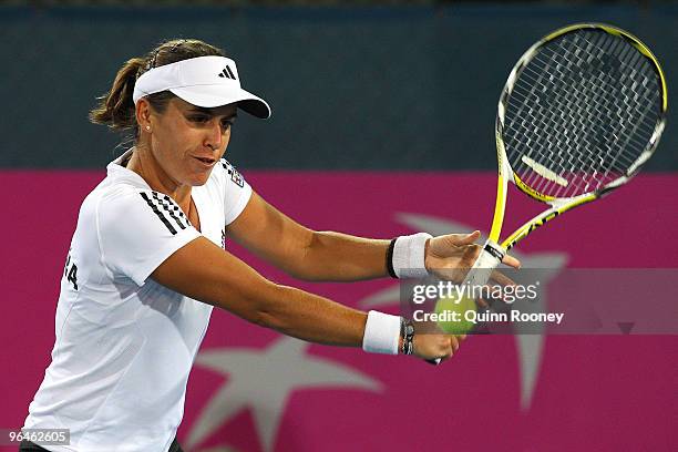
<instances>
[{"instance_id":1,"label":"player's upper bare arm and open hand, nearest the racket throat","mask_svg":"<svg viewBox=\"0 0 678 452\"><path fill-rule=\"evenodd\" d=\"M387 249L390 240L311 230L284 215L256 193L253 193L240 216L228 226L228 233L254 254L299 279L353 281L388 276ZM425 271L424 264L428 270L468 270L480 253L480 247L473 245L479 237L480 233L475 232L469 235L449 234L428 240L421 270ZM504 257L504 264L520 266L508 255ZM407 263L403 265L407 267ZM500 279L500 282L507 281Z\"/></svg>"}]
</instances>

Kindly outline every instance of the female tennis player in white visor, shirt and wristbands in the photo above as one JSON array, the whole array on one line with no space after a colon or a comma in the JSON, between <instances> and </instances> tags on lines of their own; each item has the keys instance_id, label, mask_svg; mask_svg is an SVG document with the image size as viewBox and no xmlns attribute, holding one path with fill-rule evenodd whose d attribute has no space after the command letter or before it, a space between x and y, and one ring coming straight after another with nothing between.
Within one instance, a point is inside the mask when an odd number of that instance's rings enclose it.
<instances>
[{"instance_id":1,"label":"female tennis player in white visor, shirt and wristbands","mask_svg":"<svg viewBox=\"0 0 678 452\"><path fill-rule=\"evenodd\" d=\"M270 115L236 63L197 40L127 61L91 120L134 146L84 199L56 308L52 362L24 429L70 429L70 445L21 451L181 451L186 382L213 307L307 341L449 358L463 337L417 335L267 280L226 236L305 280L425 276L469 268L479 233L376 240L314 232L267 204L222 157L239 110ZM517 260L506 258L517 266Z\"/></svg>"}]
</instances>

